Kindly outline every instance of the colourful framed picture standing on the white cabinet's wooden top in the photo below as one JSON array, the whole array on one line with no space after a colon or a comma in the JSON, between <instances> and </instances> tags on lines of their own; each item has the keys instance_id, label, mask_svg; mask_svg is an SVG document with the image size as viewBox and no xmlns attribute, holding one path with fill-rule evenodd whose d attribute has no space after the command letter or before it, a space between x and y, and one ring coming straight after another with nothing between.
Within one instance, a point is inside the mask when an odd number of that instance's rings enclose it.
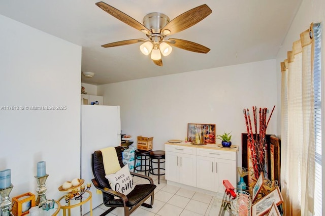
<instances>
[{"instance_id":1,"label":"colourful framed picture standing on the white cabinet's wooden top","mask_svg":"<svg viewBox=\"0 0 325 216\"><path fill-rule=\"evenodd\" d=\"M187 141L195 142L196 134L203 136L205 144L215 144L215 124L197 124L188 123L187 124ZM200 139L201 140L201 139Z\"/></svg>"}]
</instances>

